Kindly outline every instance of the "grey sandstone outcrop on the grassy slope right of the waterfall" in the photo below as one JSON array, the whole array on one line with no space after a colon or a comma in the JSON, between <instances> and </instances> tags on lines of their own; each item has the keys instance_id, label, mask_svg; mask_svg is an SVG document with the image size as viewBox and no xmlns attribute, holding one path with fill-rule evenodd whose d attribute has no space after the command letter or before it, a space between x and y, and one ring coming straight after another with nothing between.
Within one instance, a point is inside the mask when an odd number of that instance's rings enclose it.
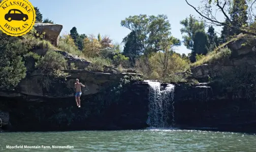
<instances>
[{"instance_id":1,"label":"grey sandstone outcrop on the grassy slope right of the waterfall","mask_svg":"<svg viewBox=\"0 0 256 152\"><path fill-rule=\"evenodd\" d=\"M191 68L191 78L207 79L220 76L221 73L229 73L234 67L247 65L251 70L256 70L256 54L253 45L243 45L246 43L246 38L240 38L227 43L223 47L228 47L232 50L229 58L223 59L213 64L204 64Z\"/></svg>"}]
</instances>

